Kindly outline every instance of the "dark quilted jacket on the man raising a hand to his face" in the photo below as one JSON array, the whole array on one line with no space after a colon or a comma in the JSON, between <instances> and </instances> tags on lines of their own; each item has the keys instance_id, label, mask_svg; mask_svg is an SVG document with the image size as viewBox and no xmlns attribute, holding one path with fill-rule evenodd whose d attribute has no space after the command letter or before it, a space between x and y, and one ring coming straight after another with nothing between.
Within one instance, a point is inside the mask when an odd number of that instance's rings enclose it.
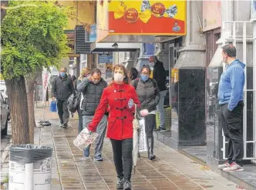
<instances>
[{"instance_id":1,"label":"dark quilted jacket on the man raising a hand to his face","mask_svg":"<svg viewBox=\"0 0 256 190\"><path fill-rule=\"evenodd\" d=\"M90 82L87 78L77 82L77 91L83 93L83 115L94 115L106 86L107 83L103 78L97 84Z\"/></svg>"}]
</instances>

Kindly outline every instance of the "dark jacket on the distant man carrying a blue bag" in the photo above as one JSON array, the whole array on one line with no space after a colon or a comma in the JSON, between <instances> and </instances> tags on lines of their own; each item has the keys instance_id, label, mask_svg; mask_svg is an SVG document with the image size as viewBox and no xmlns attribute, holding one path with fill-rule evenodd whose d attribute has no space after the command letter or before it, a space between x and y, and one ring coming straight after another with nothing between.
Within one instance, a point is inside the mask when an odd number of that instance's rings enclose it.
<instances>
[{"instance_id":1,"label":"dark jacket on the distant man carrying a blue bag","mask_svg":"<svg viewBox=\"0 0 256 190\"><path fill-rule=\"evenodd\" d=\"M52 96L65 101L74 92L74 85L70 77L56 77L52 82Z\"/></svg>"}]
</instances>

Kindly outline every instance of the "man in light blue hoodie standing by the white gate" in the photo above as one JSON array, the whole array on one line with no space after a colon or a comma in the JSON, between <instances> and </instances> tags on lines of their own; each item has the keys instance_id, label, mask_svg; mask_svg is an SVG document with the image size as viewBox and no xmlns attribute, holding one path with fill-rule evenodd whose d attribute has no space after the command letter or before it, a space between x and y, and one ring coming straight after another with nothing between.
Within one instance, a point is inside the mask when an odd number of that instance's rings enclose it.
<instances>
[{"instance_id":1,"label":"man in light blue hoodie standing by the white gate","mask_svg":"<svg viewBox=\"0 0 256 190\"><path fill-rule=\"evenodd\" d=\"M228 158L227 162L218 165L218 168L225 172L237 172L244 170L242 160L245 65L236 59L234 45L224 45L222 50L223 62L227 67L221 75L217 96L221 105L221 125L228 139Z\"/></svg>"}]
</instances>

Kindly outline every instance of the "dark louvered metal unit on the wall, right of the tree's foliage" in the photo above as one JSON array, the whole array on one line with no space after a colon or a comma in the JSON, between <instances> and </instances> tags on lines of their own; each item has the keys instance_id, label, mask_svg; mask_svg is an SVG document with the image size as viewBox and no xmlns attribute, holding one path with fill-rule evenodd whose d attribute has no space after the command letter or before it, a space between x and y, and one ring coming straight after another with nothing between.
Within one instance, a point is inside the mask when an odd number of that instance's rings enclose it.
<instances>
[{"instance_id":1,"label":"dark louvered metal unit on the wall, right of the tree's foliage","mask_svg":"<svg viewBox=\"0 0 256 190\"><path fill-rule=\"evenodd\" d=\"M89 42L89 32L86 32L83 25L76 25L75 28L75 53L90 54L92 42Z\"/></svg>"}]
</instances>

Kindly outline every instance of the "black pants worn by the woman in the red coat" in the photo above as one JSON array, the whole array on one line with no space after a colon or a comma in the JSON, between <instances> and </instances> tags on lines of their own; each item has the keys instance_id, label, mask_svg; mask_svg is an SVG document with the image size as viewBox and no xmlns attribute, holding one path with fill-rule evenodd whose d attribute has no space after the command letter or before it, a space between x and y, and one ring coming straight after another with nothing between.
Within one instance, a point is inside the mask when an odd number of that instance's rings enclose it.
<instances>
[{"instance_id":1,"label":"black pants worn by the woman in the red coat","mask_svg":"<svg viewBox=\"0 0 256 190\"><path fill-rule=\"evenodd\" d=\"M113 148L117 177L130 181L133 169L133 138L120 141L110 140Z\"/></svg>"}]
</instances>

